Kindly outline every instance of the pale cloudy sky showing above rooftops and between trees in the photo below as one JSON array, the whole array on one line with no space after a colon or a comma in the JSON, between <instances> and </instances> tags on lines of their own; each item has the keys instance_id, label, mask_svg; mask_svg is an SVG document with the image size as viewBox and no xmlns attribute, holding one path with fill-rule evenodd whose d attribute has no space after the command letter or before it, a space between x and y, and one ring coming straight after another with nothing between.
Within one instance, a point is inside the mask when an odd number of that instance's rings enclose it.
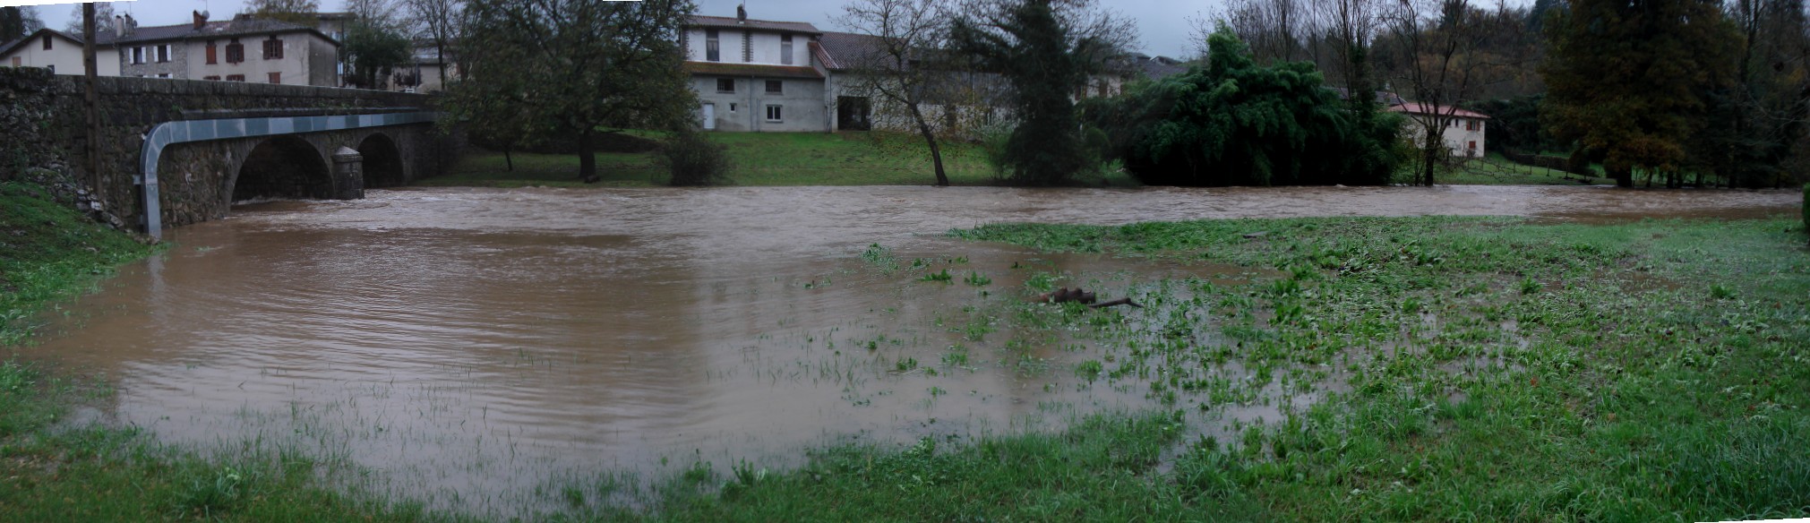
<instances>
[{"instance_id":1,"label":"pale cloudy sky showing above rooftops and between trees","mask_svg":"<svg viewBox=\"0 0 1810 523\"><path fill-rule=\"evenodd\" d=\"M735 16L735 5L748 2L748 16L760 20L811 22L824 31L842 31L831 18L842 13L847 0L693 0L699 14ZM18 4L4 2L0 4ZM344 0L320 0L322 11L338 11ZM1137 22L1140 51L1148 54L1187 56L1193 20L1218 9L1220 0L1102 0L1111 11ZM62 29L76 13L78 4L38 5L38 14L49 27ZM243 0L136 0L114 2L114 11L132 13L139 25L170 25L188 22L190 11L212 11L214 18L228 18L244 9Z\"/></svg>"}]
</instances>

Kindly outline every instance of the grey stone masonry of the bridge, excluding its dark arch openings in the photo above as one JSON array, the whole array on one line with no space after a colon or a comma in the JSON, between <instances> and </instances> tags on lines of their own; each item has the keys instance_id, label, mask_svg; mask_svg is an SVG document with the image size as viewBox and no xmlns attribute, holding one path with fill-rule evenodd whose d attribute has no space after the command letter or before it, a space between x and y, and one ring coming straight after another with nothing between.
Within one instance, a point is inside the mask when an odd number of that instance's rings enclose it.
<instances>
[{"instance_id":1,"label":"grey stone masonry of the bridge, excluding its dark arch openings","mask_svg":"<svg viewBox=\"0 0 1810 523\"><path fill-rule=\"evenodd\" d=\"M425 94L248 81L103 76L96 90L101 119L100 199L127 219L139 215L139 145L157 123L433 107L433 98ZM60 165L78 181L87 179L85 110L80 76L0 67L0 179L20 177L27 166L47 165ZM302 139L331 165L331 154L338 147L358 148L373 134L384 134L400 154L402 179L387 185L442 172L462 147L458 136L443 136L431 125L317 132ZM223 217L239 166L268 139L223 139L167 148L157 166L163 221L188 224Z\"/></svg>"}]
</instances>

